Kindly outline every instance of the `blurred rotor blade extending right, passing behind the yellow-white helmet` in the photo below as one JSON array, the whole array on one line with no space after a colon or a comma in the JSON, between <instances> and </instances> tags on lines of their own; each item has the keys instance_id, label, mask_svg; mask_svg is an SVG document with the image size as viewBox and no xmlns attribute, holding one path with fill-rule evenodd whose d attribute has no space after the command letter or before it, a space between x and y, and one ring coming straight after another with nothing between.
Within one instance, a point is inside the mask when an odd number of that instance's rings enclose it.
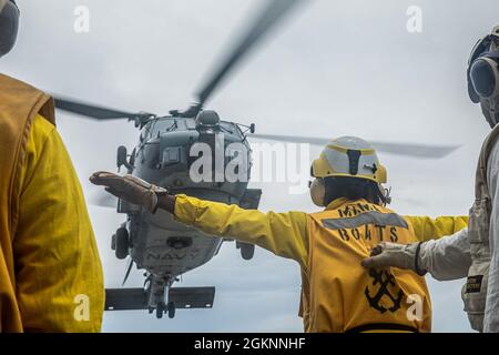
<instances>
[{"instance_id":1,"label":"blurred rotor blade extending right, passing behind the yellow-white helmet","mask_svg":"<svg viewBox=\"0 0 499 355\"><path fill-rule=\"evenodd\" d=\"M248 138L264 139L271 141L285 141L292 143L308 143L313 145L326 145L329 139L310 138L310 136L293 136L277 134L252 134ZM414 156L421 159L440 159L449 155L459 146L457 145L430 145L418 143L391 143L380 141L369 141L376 150L395 155Z\"/></svg>"}]
</instances>

